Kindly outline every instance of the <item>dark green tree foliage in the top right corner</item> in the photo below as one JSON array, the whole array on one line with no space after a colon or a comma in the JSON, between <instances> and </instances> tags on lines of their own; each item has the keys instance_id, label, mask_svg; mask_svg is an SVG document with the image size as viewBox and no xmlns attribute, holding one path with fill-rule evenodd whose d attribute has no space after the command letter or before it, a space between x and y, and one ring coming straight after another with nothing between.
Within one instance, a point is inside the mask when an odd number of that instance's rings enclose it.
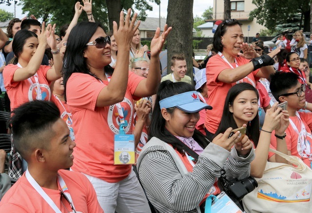
<instances>
[{"instance_id":1,"label":"dark green tree foliage in the top right corner","mask_svg":"<svg viewBox=\"0 0 312 213\"><path fill-rule=\"evenodd\" d=\"M310 31L310 0L253 0L256 8L250 19L256 18L259 24L274 30L277 24L292 22L293 15L302 14L305 31ZM300 22L297 23L301 29Z\"/></svg>"}]
</instances>

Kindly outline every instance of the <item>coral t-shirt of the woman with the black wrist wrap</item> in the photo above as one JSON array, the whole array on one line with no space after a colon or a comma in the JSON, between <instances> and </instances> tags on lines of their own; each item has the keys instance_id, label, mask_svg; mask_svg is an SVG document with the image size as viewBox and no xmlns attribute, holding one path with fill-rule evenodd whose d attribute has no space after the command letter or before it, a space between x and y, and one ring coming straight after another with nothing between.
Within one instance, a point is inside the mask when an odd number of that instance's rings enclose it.
<instances>
[{"instance_id":1,"label":"coral t-shirt of the woman with the black wrist wrap","mask_svg":"<svg viewBox=\"0 0 312 213\"><path fill-rule=\"evenodd\" d=\"M238 57L238 56L235 57L235 60L238 66L241 66L250 62L250 60L242 58L242 57ZM236 67L235 63L231 63L231 65L234 68ZM233 86L233 84L235 84L235 83L232 84L232 83L221 82L217 79L219 74L225 69L232 69L232 68L218 54L211 57L208 60L208 63L206 66L208 104L212 106L213 109L206 111L205 127L209 132L213 134L216 132L220 124L225 97L227 96L228 91ZM247 76L248 78L241 79L239 83L246 82L246 83L253 84L255 86L256 81L259 80L258 77L255 77L258 71L259 69L250 73Z\"/></svg>"}]
</instances>

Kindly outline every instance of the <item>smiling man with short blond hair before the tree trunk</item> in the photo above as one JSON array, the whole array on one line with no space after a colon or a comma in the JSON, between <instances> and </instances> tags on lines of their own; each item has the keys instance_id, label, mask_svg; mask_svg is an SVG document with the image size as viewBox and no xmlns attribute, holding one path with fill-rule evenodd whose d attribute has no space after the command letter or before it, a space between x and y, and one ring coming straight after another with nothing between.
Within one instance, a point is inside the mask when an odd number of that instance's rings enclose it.
<instances>
[{"instance_id":1,"label":"smiling man with short blond hair before the tree trunk","mask_svg":"<svg viewBox=\"0 0 312 213\"><path fill-rule=\"evenodd\" d=\"M186 60L184 54L175 54L171 58L172 73L161 78L161 82L171 80L172 82L186 82L192 85L191 77L186 76Z\"/></svg>"}]
</instances>

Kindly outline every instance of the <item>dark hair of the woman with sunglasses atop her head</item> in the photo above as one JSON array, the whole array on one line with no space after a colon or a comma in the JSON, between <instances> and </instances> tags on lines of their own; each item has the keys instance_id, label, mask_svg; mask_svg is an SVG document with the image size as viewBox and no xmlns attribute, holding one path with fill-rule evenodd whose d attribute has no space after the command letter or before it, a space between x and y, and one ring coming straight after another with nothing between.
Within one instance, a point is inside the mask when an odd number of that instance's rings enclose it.
<instances>
[{"instance_id":1,"label":"dark hair of the woman with sunglasses atop her head","mask_svg":"<svg viewBox=\"0 0 312 213\"><path fill-rule=\"evenodd\" d=\"M221 36L223 36L226 33L228 26L234 26L237 24L239 26L242 25L236 19L225 19L222 21L222 23L218 25L218 27L215 30L214 41L213 41L214 48L217 52L223 51L223 44L221 42Z\"/></svg>"}]
</instances>

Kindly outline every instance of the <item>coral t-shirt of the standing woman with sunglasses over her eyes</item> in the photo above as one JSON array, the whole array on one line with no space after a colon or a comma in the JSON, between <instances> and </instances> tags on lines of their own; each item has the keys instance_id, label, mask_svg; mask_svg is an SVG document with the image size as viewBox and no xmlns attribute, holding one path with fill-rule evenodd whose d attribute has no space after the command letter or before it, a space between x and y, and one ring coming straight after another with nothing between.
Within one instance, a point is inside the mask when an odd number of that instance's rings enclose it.
<instances>
[{"instance_id":1,"label":"coral t-shirt of the standing woman with sunglasses over her eyes","mask_svg":"<svg viewBox=\"0 0 312 213\"><path fill-rule=\"evenodd\" d=\"M144 79L129 72L125 97L120 102L128 125L133 130L133 94ZM98 94L108 85L88 74L73 73L66 84L67 105L72 112L76 148L72 170L98 177L110 183L126 178L131 165L114 165L114 136L119 133L119 116L114 105L96 107ZM118 89L118 88L116 88Z\"/></svg>"}]
</instances>

